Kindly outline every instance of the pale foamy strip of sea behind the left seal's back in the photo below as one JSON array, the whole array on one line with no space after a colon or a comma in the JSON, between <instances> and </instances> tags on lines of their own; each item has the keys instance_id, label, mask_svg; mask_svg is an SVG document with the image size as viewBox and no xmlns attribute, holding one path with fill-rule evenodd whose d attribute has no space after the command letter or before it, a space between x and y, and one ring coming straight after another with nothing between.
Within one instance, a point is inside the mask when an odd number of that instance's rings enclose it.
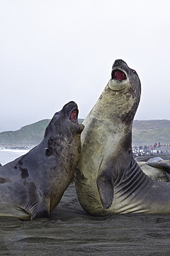
<instances>
[{"instance_id":1,"label":"pale foamy strip of sea behind the left seal's back","mask_svg":"<svg viewBox=\"0 0 170 256\"><path fill-rule=\"evenodd\" d=\"M12 147L11 145L0 145L0 163L1 165L6 165L13 161L14 159L22 156L30 151L32 147Z\"/></svg>"}]
</instances>

